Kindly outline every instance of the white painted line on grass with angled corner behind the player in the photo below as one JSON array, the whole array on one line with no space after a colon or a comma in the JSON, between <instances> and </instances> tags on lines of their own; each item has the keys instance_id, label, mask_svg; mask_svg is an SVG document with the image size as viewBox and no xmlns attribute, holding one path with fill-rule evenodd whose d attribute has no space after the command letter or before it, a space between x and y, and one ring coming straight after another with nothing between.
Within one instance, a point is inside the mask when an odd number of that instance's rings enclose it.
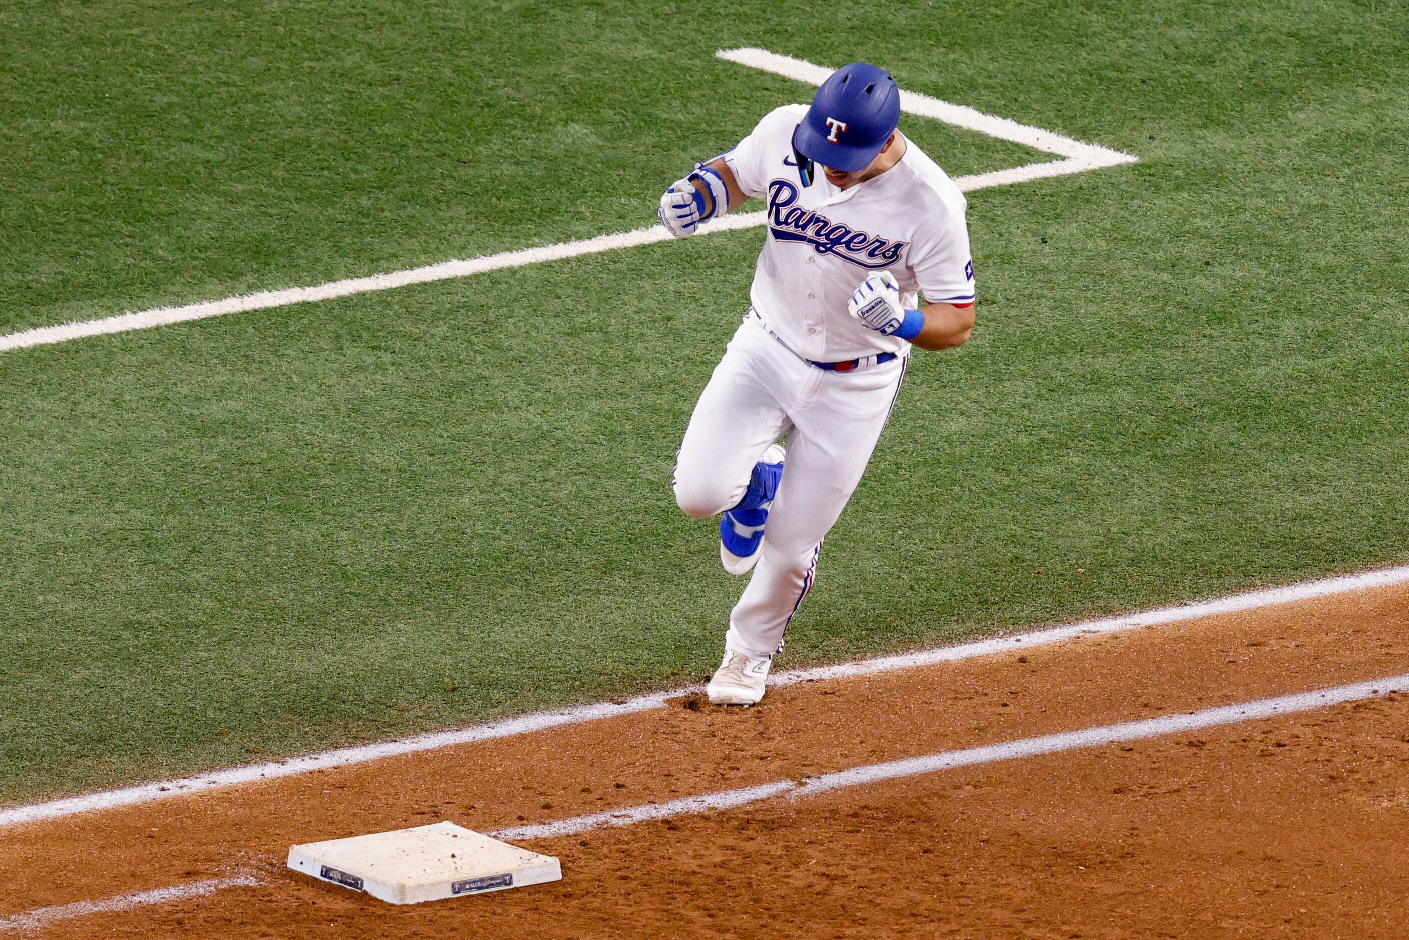
<instances>
[{"instance_id":1,"label":"white painted line on grass with angled corner behind the player","mask_svg":"<svg viewBox=\"0 0 1409 940\"><path fill-rule=\"evenodd\" d=\"M833 72L826 66L813 65L812 62L805 62L803 59L795 59L786 55L778 55L776 52L769 52L766 49L720 49L716 55L728 62L737 62L740 65L772 72L775 75L783 75L802 82L810 82L813 85L820 85L823 79ZM954 182L964 192L986 189L989 186L1022 183L1047 176L1082 173L1092 169L1100 169L1103 166L1131 163L1138 159L1106 147L1075 141L1069 137L1062 137L1061 134L1054 134L1040 127L1029 127L1026 124L1019 124L1017 121L1010 121L1005 117L983 114L982 111L976 111L971 107L951 104L916 92L900 92L900 109L909 114L930 117L947 124L979 131L991 137L1026 144L1034 149L1057 154L1065 158L1041 163L1027 163L1026 166L1013 166L1010 169L1000 169L989 173L958 176ZM764 213L726 216L724 218L702 225L700 234L757 228L758 225L762 225L764 221ZM640 248L643 245L671 241L671 238L672 235L665 231L664 227L651 225L650 228L612 233L607 235L597 235L596 238L565 241L552 245L541 245L538 248L519 248L516 251L504 251L496 255L485 255L466 261L442 261L423 268L409 268L406 271L369 275L366 278L333 280L328 283L314 285L311 287L261 290L258 293L240 295L225 297L223 300L206 300L179 307L156 307L138 313L123 313L111 317L101 317L99 320L63 323L52 327L34 327L32 330L21 330L18 333L0 335L0 352L38 345L52 345L55 342L68 342L69 340L106 335L111 333L149 330L152 327L163 327L175 323L223 317L231 313L269 310L294 303L333 300L334 297L349 297L352 295L371 293L373 290L392 290L395 287L406 287L417 283L469 278L489 271L504 271L509 268L523 268L550 261L565 261L568 258L581 258L583 255L595 255L621 248Z\"/></svg>"}]
</instances>

